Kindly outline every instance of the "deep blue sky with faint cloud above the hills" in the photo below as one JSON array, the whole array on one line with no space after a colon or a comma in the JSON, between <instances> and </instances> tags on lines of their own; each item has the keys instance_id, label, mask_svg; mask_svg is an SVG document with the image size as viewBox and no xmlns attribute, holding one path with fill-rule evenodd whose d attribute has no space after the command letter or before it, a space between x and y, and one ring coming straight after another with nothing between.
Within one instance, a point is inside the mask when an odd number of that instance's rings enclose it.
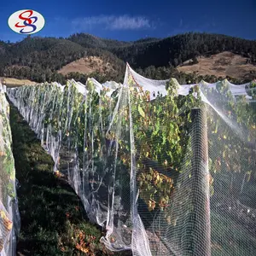
<instances>
[{"instance_id":1,"label":"deep blue sky with faint cloud above the hills","mask_svg":"<svg viewBox=\"0 0 256 256\"><path fill-rule=\"evenodd\" d=\"M20 9L44 16L44 28L34 34L40 37L66 38L86 32L133 41L212 32L256 39L256 0L1 0L0 40L16 42L25 37L8 26L9 16Z\"/></svg>"}]
</instances>

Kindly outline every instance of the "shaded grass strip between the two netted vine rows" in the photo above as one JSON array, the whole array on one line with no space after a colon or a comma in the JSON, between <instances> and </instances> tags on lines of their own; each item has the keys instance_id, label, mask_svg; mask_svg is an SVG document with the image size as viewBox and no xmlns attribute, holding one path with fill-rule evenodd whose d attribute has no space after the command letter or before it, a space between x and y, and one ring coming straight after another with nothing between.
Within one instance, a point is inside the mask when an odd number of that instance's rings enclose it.
<instances>
[{"instance_id":1,"label":"shaded grass strip between the two netted vine rows","mask_svg":"<svg viewBox=\"0 0 256 256\"><path fill-rule=\"evenodd\" d=\"M55 177L53 160L12 105L10 125L20 182L17 255L131 255L111 253L101 244L104 233L89 223L79 197L67 181Z\"/></svg>"}]
</instances>

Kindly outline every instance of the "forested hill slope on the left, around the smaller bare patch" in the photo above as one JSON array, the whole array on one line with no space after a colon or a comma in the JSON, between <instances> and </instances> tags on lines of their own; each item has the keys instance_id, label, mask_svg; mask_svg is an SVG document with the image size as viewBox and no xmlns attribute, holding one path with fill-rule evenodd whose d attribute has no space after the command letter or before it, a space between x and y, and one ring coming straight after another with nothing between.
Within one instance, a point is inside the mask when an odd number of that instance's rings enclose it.
<instances>
[{"instance_id":1,"label":"forested hill slope on the left, around the smaller bare patch","mask_svg":"<svg viewBox=\"0 0 256 256\"><path fill-rule=\"evenodd\" d=\"M64 77L56 71L82 57L98 56L108 61L118 73L125 70L124 61L104 49L84 48L63 38L26 38L16 44L4 44L0 54L0 75L34 81L58 80Z\"/></svg>"}]
</instances>

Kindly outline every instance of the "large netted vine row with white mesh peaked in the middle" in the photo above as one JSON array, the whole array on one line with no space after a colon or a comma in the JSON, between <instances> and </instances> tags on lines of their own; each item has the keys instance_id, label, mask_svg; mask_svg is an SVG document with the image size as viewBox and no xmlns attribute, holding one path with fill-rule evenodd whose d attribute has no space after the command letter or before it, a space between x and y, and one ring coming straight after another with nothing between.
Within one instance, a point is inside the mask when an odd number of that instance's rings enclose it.
<instances>
[{"instance_id":1,"label":"large netted vine row with white mesh peaked in the middle","mask_svg":"<svg viewBox=\"0 0 256 256\"><path fill-rule=\"evenodd\" d=\"M102 242L134 255L253 255L255 83L38 84L8 95Z\"/></svg>"}]
</instances>

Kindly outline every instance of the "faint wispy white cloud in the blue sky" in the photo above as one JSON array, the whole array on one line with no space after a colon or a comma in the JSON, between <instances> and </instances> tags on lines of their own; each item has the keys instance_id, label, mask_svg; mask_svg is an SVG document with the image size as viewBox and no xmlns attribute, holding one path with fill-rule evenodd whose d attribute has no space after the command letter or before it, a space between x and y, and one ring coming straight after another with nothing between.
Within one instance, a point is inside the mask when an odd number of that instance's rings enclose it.
<instances>
[{"instance_id":1,"label":"faint wispy white cloud in the blue sky","mask_svg":"<svg viewBox=\"0 0 256 256\"><path fill-rule=\"evenodd\" d=\"M96 26L103 26L106 30L139 30L154 28L154 24L143 16L131 17L129 15L99 15L72 20L76 30L93 29Z\"/></svg>"}]
</instances>

